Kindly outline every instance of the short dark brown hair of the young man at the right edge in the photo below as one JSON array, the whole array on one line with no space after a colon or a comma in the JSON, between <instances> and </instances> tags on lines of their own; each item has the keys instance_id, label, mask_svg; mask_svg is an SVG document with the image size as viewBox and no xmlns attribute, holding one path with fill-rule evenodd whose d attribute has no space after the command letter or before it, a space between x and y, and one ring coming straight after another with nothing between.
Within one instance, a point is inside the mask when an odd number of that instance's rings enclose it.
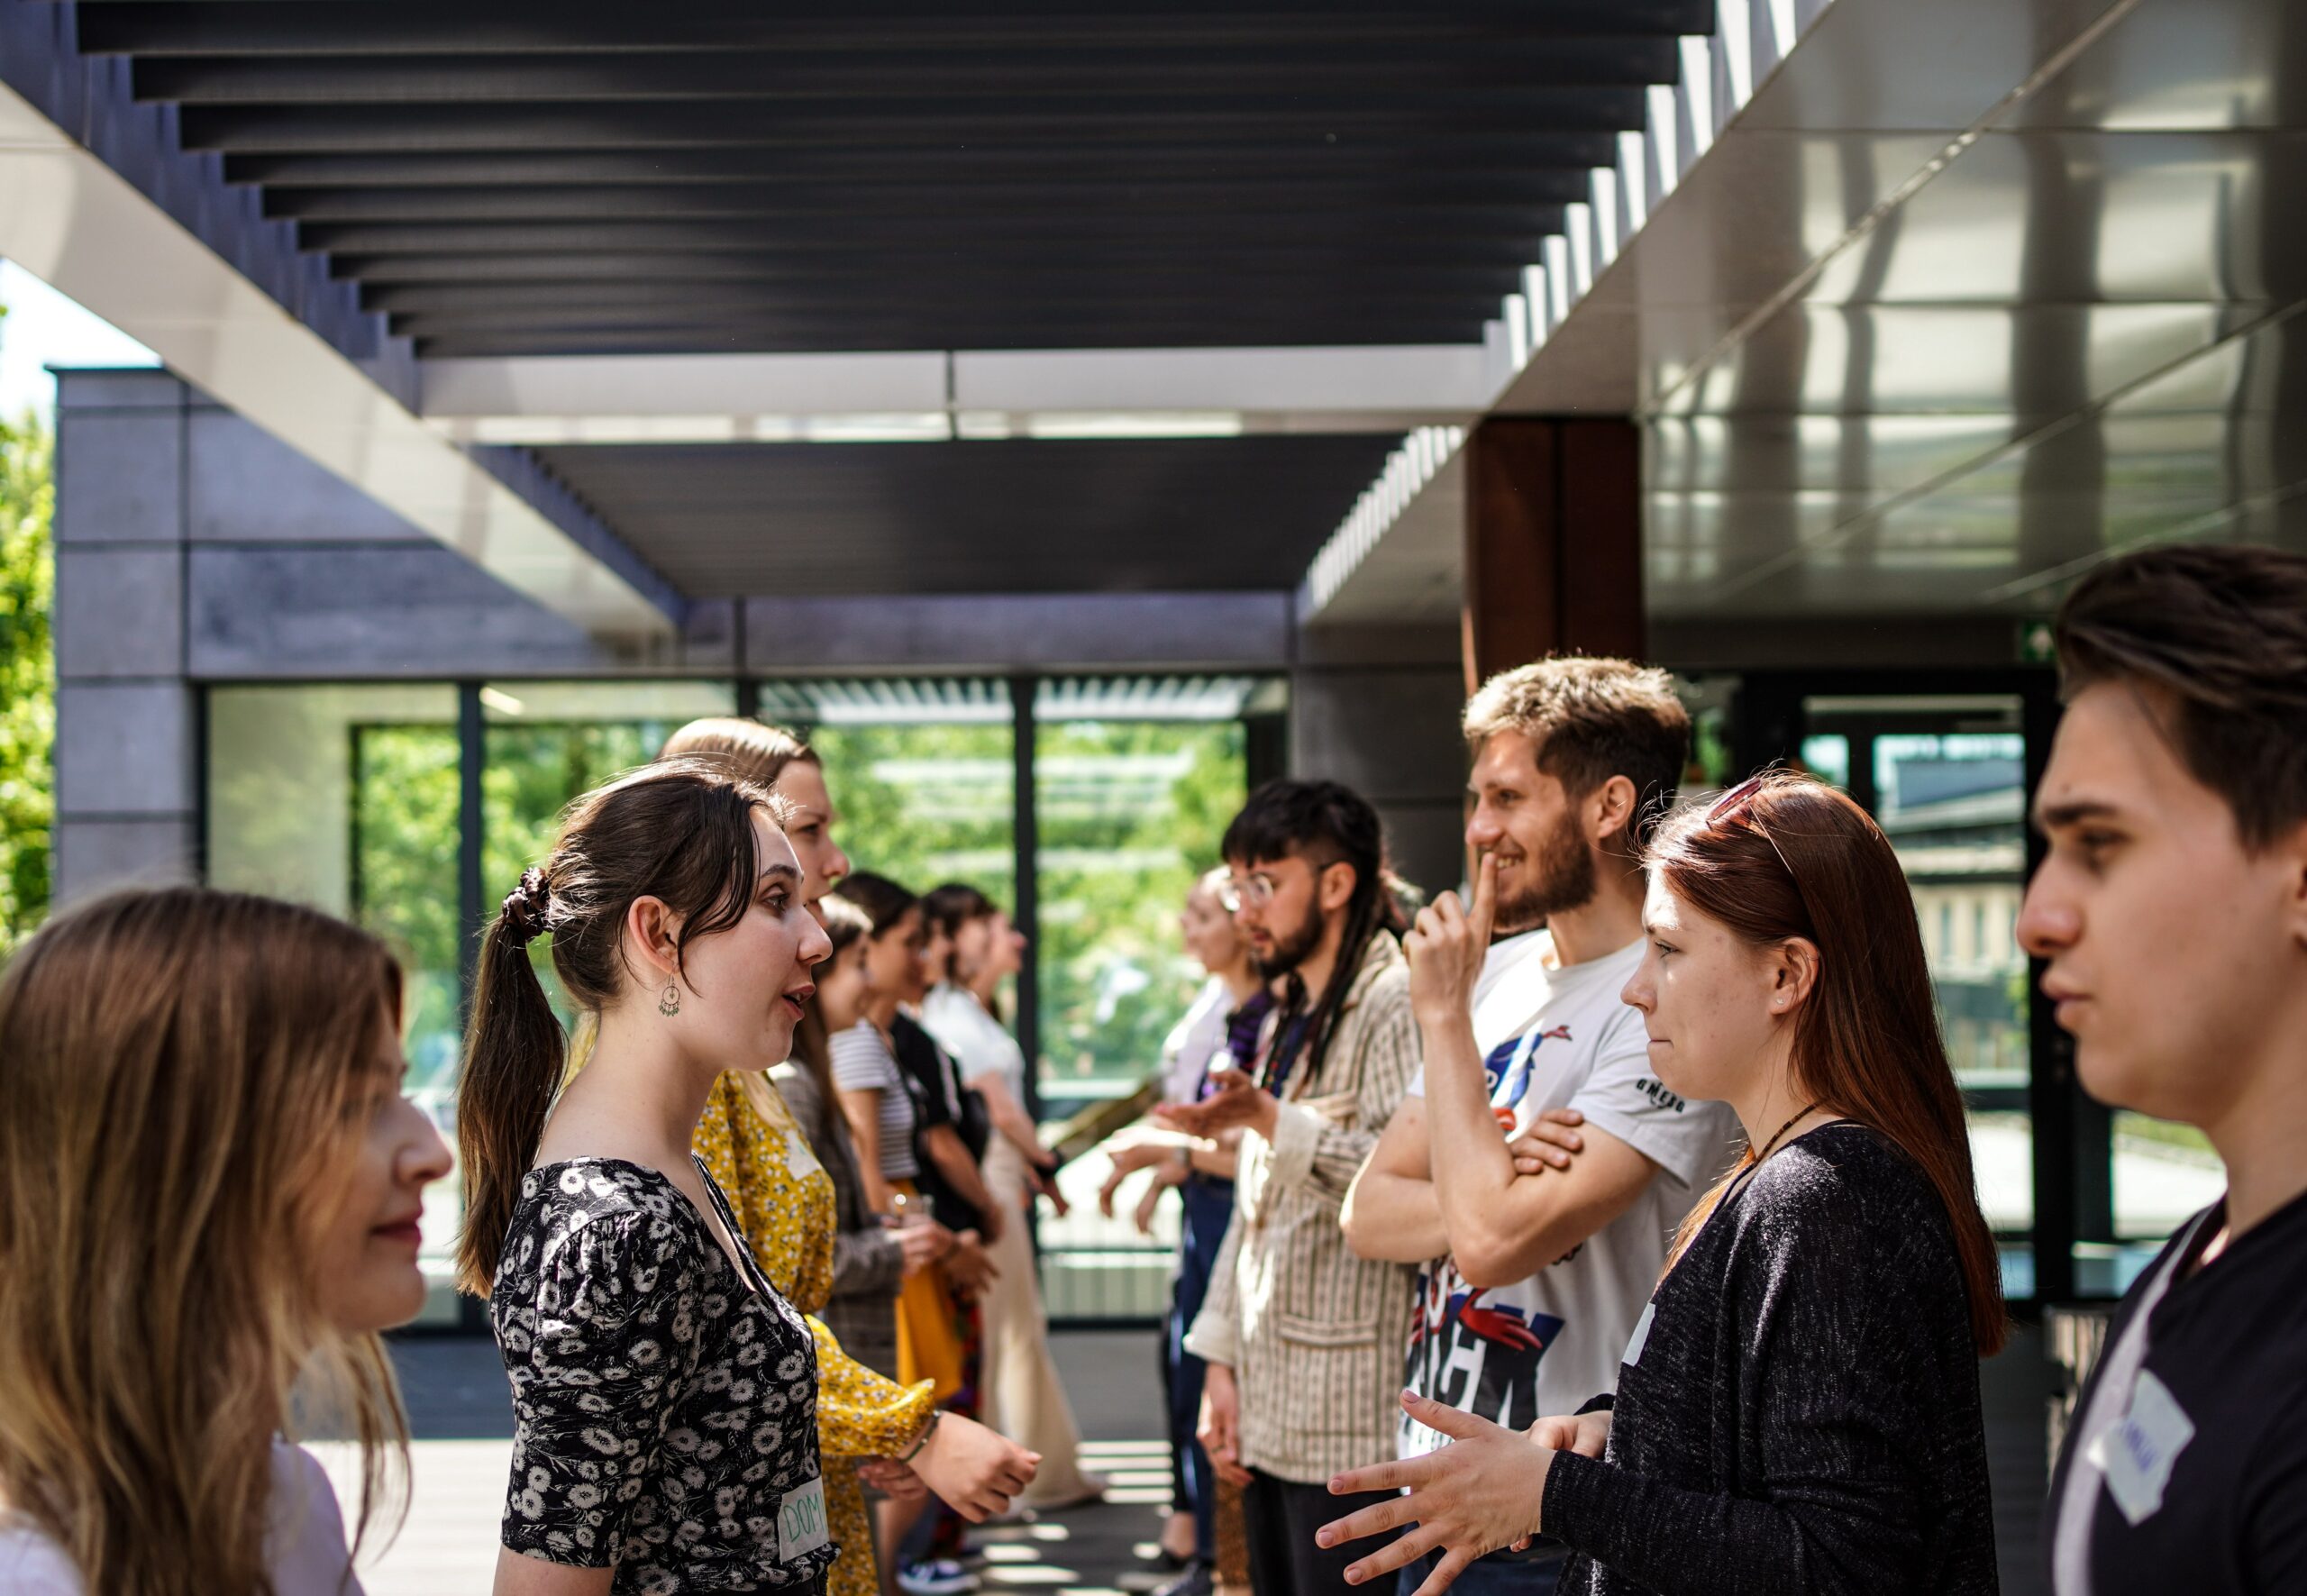
<instances>
[{"instance_id":1,"label":"short dark brown hair of the young man at the right edge","mask_svg":"<svg viewBox=\"0 0 2307 1596\"><path fill-rule=\"evenodd\" d=\"M2053 627L2060 697L2106 680L2152 687L2196 782L2247 849L2307 821L2307 558L2169 547L2109 560Z\"/></svg>"}]
</instances>

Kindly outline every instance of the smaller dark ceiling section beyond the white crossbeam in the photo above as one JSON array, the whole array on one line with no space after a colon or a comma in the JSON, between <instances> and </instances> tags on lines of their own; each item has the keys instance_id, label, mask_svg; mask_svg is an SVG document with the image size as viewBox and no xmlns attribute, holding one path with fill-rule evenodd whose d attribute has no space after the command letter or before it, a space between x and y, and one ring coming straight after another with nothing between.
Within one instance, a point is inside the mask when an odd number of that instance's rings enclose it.
<instances>
[{"instance_id":1,"label":"smaller dark ceiling section beyond the white crossbeam","mask_svg":"<svg viewBox=\"0 0 2307 1596\"><path fill-rule=\"evenodd\" d=\"M538 450L692 597L1294 588L1391 438Z\"/></svg>"}]
</instances>

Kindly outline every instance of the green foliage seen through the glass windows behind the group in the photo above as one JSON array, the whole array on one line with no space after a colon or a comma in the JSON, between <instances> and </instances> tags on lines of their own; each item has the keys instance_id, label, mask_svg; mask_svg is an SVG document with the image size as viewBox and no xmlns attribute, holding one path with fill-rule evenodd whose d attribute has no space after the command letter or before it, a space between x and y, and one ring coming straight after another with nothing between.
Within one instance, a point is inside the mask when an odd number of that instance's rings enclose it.
<instances>
[{"instance_id":1,"label":"green foliage seen through the glass windows behind the group","mask_svg":"<svg viewBox=\"0 0 2307 1596\"><path fill-rule=\"evenodd\" d=\"M482 888L494 906L551 846L563 805L644 763L651 722L491 724L482 770ZM916 893L969 881L1015 902L1010 727L865 724L810 731L858 869ZM1038 729L1040 1033L1050 1098L1154 1068L1200 971L1177 911L1243 798L1239 724L1057 722ZM355 729L355 916L415 971L411 1054L454 1070L457 733ZM551 978L549 943L531 948Z\"/></svg>"}]
</instances>

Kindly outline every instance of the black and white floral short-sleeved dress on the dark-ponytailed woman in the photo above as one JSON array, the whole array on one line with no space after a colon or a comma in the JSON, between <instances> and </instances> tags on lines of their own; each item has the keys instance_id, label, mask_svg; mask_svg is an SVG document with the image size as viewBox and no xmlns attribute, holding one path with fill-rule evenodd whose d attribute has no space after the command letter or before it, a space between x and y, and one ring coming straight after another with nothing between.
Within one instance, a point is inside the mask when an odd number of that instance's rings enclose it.
<instances>
[{"instance_id":1,"label":"black and white floral short-sleeved dress on the dark-ponytailed woman","mask_svg":"<svg viewBox=\"0 0 2307 1596\"><path fill-rule=\"evenodd\" d=\"M814 1342L678 1185L621 1158L531 1169L489 1312L512 1379L508 1548L614 1564L618 1594L819 1584L837 1548Z\"/></svg>"}]
</instances>

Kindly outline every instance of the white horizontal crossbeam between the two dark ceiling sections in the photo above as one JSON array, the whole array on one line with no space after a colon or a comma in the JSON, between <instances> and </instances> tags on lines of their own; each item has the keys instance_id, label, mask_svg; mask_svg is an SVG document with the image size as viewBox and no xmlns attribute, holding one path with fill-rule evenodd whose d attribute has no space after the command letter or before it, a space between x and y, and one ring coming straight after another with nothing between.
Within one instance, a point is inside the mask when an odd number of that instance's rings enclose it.
<instances>
[{"instance_id":1,"label":"white horizontal crossbeam between the two dark ceiling sections","mask_svg":"<svg viewBox=\"0 0 2307 1596\"><path fill-rule=\"evenodd\" d=\"M468 443L1174 438L1400 431L1497 392L1479 344L524 355L424 362Z\"/></svg>"}]
</instances>

